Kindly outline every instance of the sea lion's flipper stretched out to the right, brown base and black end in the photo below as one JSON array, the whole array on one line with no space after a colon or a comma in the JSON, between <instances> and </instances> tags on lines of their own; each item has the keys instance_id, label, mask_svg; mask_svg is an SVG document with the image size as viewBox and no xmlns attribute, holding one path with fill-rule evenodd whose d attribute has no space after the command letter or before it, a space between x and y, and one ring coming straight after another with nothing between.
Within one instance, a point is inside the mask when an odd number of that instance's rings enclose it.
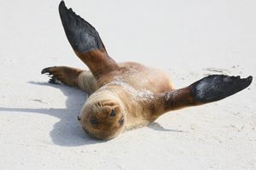
<instances>
[{"instance_id":1,"label":"sea lion's flipper stretched out to the right, brown base and black end","mask_svg":"<svg viewBox=\"0 0 256 170\"><path fill-rule=\"evenodd\" d=\"M202 105L229 97L247 88L253 77L240 78L211 75L194 82L187 88L163 94L164 111L177 110L186 106Z\"/></svg>"}]
</instances>

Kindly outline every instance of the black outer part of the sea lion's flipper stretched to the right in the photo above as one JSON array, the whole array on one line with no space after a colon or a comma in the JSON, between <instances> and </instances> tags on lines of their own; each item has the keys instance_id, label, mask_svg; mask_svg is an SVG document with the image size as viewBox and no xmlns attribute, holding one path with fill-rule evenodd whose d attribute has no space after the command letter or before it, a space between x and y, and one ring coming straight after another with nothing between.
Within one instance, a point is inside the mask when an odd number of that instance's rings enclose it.
<instances>
[{"instance_id":1,"label":"black outer part of the sea lion's flipper stretched to the right","mask_svg":"<svg viewBox=\"0 0 256 170\"><path fill-rule=\"evenodd\" d=\"M192 95L195 100L208 103L224 99L247 88L253 77L240 78L224 75L212 75L191 84Z\"/></svg>"}]
</instances>

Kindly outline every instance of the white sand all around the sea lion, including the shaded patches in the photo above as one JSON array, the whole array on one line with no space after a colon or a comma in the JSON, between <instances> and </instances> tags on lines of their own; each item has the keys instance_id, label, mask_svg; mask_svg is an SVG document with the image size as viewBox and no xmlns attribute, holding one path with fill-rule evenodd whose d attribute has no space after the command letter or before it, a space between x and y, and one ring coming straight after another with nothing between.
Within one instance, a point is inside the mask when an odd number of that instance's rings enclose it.
<instances>
[{"instance_id":1,"label":"white sand all around the sea lion, including the shaded patches","mask_svg":"<svg viewBox=\"0 0 256 170\"><path fill-rule=\"evenodd\" d=\"M228 99L170 112L108 142L79 127L83 92L40 75L51 65L85 68L58 3L1 1L0 169L256 169L255 0L66 1L114 59L166 70L177 87L213 73L254 78Z\"/></svg>"}]
</instances>

